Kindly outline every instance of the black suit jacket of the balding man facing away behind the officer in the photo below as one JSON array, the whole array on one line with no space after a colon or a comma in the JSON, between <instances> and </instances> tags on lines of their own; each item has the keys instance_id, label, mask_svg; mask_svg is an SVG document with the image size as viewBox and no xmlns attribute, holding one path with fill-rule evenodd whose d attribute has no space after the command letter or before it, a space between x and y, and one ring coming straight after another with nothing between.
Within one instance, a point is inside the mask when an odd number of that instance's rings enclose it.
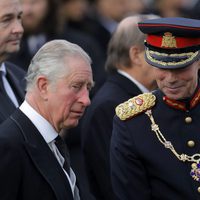
<instances>
[{"instance_id":1,"label":"black suit jacket of the balding man facing away behind the officer","mask_svg":"<svg viewBox=\"0 0 200 200\"><path fill-rule=\"evenodd\" d=\"M109 165L109 147L115 107L140 94L139 88L116 73L97 92L82 121L82 147L92 193L98 200L115 199Z\"/></svg>"}]
</instances>

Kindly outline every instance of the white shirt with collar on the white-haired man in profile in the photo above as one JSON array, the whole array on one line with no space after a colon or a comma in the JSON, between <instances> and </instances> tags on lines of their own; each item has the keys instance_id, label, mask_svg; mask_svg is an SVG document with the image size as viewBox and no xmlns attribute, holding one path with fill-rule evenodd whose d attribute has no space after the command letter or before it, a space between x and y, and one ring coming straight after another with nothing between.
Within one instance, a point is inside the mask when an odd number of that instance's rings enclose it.
<instances>
[{"instance_id":1,"label":"white shirt with collar on the white-haired man in profile","mask_svg":"<svg viewBox=\"0 0 200 200\"><path fill-rule=\"evenodd\" d=\"M74 199L78 199L77 197L75 197L77 195L77 191L75 192L75 190L78 190L78 188L76 187L76 176L71 168L70 168L70 176L64 170L63 168L64 158L55 145L55 138L58 136L58 133L44 117L42 117L36 110L34 110L28 104L26 100L22 103L19 109L31 120L31 122L35 125L35 127L38 129L38 131L48 144L49 148L55 155L56 159L58 160L65 175L69 180Z\"/></svg>"}]
</instances>

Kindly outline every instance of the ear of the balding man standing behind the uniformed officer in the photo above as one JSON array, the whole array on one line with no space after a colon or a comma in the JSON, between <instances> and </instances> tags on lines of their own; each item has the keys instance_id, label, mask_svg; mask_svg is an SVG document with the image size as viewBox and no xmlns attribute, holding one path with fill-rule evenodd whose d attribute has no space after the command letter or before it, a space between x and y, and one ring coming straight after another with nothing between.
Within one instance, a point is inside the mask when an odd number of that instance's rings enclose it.
<instances>
[{"instance_id":1,"label":"ear of the balding man standing behind the uniformed officer","mask_svg":"<svg viewBox=\"0 0 200 200\"><path fill-rule=\"evenodd\" d=\"M129 49L129 57L134 65L141 64L141 51L141 48L137 45L134 45Z\"/></svg>"}]
</instances>

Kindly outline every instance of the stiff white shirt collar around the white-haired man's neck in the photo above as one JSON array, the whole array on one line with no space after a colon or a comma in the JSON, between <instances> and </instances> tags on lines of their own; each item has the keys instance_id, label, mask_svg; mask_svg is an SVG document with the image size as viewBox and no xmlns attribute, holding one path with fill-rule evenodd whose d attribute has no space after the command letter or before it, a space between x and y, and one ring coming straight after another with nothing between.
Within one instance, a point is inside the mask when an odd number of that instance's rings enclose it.
<instances>
[{"instance_id":1,"label":"stiff white shirt collar around the white-haired man's neck","mask_svg":"<svg viewBox=\"0 0 200 200\"><path fill-rule=\"evenodd\" d=\"M50 143L58 136L58 133L52 125L42 117L31 105L25 100L19 109L31 120L38 129L46 143Z\"/></svg>"}]
</instances>

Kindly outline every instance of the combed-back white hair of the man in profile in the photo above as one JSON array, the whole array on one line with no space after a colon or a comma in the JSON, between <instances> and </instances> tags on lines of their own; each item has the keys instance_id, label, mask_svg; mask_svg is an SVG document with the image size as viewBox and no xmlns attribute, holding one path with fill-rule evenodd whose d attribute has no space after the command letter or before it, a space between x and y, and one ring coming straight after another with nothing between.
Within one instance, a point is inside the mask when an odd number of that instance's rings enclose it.
<instances>
[{"instance_id":1,"label":"combed-back white hair of the man in profile","mask_svg":"<svg viewBox=\"0 0 200 200\"><path fill-rule=\"evenodd\" d=\"M82 57L91 65L91 58L80 46L66 40L47 42L31 60L26 76L26 90L29 91L35 86L37 77L40 75L46 76L53 83L58 78L67 75L66 67L69 68L69 66L64 61L72 56Z\"/></svg>"}]
</instances>

